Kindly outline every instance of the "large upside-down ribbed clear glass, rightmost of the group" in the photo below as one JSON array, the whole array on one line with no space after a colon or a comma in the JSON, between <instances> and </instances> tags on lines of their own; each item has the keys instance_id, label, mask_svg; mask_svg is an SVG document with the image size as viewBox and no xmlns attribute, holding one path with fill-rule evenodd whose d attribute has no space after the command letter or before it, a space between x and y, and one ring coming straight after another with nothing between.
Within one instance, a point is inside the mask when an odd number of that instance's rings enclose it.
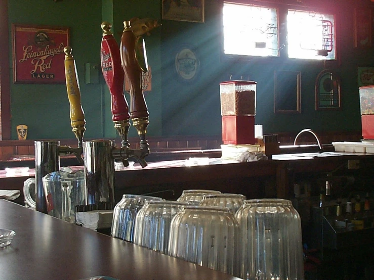
<instances>
[{"instance_id":1,"label":"large upside-down ribbed clear glass, rightmost of the group","mask_svg":"<svg viewBox=\"0 0 374 280\"><path fill-rule=\"evenodd\" d=\"M299 213L289 200L246 200L239 222L237 276L247 280L303 280Z\"/></svg>"}]
</instances>

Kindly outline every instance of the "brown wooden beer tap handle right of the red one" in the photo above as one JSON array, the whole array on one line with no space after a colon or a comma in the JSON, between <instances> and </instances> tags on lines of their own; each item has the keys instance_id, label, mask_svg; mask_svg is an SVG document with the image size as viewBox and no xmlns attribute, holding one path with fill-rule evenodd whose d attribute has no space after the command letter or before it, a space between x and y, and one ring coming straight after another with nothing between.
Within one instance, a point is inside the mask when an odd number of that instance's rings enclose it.
<instances>
[{"instance_id":1,"label":"brown wooden beer tap handle right of the red one","mask_svg":"<svg viewBox=\"0 0 374 280\"><path fill-rule=\"evenodd\" d=\"M131 119L140 136L140 147L148 150L149 153L148 143L145 139L149 113L142 89L142 72L148 70L145 43L142 37L135 36L130 21L124 21L123 25L120 54L124 73L130 82Z\"/></svg>"}]
</instances>

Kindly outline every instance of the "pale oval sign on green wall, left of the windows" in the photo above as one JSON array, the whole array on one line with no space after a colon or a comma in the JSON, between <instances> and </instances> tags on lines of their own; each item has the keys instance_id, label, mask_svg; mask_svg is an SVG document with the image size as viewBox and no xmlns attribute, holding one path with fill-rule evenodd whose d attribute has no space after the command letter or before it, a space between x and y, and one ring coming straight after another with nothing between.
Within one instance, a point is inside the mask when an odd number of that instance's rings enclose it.
<instances>
[{"instance_id":1,"label":"pale oval sign on green wall, left of the windows","mask_svg":"<svg viewBox=\"0 0 374 280\"><path fill-rule=\"evenodd\" d=\"M188 48L182 48L175 57L175 69L178 75L185 81L196 77L200 62L196 54Z\"/></svg>"}]
</instances>

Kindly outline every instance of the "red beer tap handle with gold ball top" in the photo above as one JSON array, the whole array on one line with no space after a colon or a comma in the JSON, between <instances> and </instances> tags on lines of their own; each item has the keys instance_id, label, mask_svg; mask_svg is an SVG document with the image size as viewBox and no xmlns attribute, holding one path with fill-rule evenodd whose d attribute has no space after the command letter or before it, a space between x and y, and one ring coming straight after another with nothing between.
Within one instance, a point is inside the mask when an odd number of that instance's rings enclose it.
<instances>
[{"instance_id":1,"label":"red beer tap handle with gold ball top","mask_svg":"<svg viewBox=\"0 0 374 280\"><path fill-rule=\"evenodd\" d=\"M122 146L129 147L128 132L130 127L129 106L123 95L124 72L121 66L119 46L110 32L111 24L101 24L103 38L101 40L101 69L111 95L111 111L114 127L122 139Z\"/></svg>"}]
</instances>

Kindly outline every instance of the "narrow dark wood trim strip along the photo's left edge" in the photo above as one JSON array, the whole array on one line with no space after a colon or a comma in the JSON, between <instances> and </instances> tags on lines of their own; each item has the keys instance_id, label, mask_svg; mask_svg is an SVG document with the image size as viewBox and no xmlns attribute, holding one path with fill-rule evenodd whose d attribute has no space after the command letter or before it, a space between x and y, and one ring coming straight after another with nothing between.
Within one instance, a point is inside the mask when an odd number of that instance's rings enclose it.
<instances>
[{"instance_id":1,"label":"narrow dark wood trim strip along the photo's left edge","mask_svg":"<svg viewBox=\"0 0 374 280\"><path fill-rule=\"evenodd\" d=\"M1 140L11 138L8 1L0 0L0 102Z\"/></svg>"}]
</instances>

